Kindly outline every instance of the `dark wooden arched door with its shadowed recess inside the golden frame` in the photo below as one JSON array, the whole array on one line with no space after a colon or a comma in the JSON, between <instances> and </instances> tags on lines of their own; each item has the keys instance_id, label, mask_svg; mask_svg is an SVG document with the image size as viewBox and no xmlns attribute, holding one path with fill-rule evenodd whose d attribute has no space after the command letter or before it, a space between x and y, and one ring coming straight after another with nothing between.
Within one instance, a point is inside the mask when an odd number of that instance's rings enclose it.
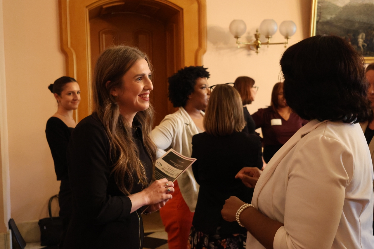
<instances>
[{"instance_id":1,"label":"dark wooden arched door with its shadowed recess inside the golden frame","mask_svg":"<svg viewBox=\"0 0 374 249\"><path fill-rule=\"evenodd\" d=\"M99 54L112 45L138 47L150 58L155 125L175 111L168 101L168 77L182 66L176 58L181 54L181 21L178 10L159 2L126 0L89 10L92 72Z\"/></svg>"}]
</instances>

